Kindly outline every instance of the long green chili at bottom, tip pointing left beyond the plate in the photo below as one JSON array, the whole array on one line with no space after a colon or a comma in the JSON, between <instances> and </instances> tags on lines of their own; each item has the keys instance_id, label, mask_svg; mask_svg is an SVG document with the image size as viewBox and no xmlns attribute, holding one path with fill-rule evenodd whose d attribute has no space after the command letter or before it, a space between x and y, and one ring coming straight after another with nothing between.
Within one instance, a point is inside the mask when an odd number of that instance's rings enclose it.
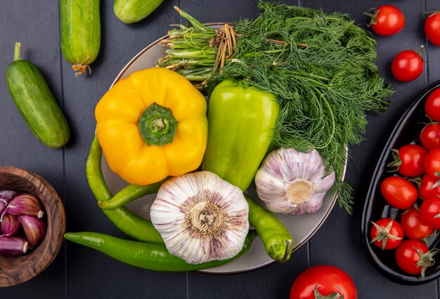
<instances>
[{"instance_id":1,"label":"long green chili at bottom, tip pointing left beyond the plate","mask_svg":"<svg viewBox=\"0 0 440 299\"><path fill-rule=\"evenodd\" d=\"M252 241L256 236L257 232L250 230L247 234L242 250L233 258L190 265L185 263L181 258L170 254L167 251L167 247L163 244L129 241L97 232L67 232L64 235L67 240L105 253L122 263L147 270L170 272L194 271L225 265L245 254L249 250Z\"/></svg>"}]
</instances>

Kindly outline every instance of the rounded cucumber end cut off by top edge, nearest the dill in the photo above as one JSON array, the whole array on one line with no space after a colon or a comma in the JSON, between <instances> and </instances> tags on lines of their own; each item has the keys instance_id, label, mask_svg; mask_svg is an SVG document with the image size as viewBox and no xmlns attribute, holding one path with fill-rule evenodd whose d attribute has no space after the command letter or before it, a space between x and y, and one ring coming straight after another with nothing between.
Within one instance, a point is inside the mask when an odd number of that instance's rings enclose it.
<instances>
[{"instance_id":1,"label":"rounded cucumber end cut off by top edge, nearest the dill","mask_svg":"<svg viewBox=\"0 0 440 299\"><path fill-rule=\"evenodd\" d=\"M126 24L146 18L160 6L163 0L115 0L113 11Z\"/></svg>"}]
</instances>

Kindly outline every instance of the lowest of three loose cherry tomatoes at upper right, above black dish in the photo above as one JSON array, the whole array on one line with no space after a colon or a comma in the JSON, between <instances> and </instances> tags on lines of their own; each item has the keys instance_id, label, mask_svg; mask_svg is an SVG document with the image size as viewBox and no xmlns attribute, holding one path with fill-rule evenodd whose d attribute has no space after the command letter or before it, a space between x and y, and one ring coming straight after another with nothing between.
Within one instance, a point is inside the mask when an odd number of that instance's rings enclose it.
<instances>
[{"instance_id":1,"label":"lowest of three loose cherry tomatoes at upper right, above black dish","mask_svg":"<svg viewBox=\"0 0 440 299\"><path fill-rule=\"evenodd\" d=\"M413 50L402 51L394 57L391 71L394 78L402 82L413 81L423 72L423 60Z\"/></svg>"}]
</instances>

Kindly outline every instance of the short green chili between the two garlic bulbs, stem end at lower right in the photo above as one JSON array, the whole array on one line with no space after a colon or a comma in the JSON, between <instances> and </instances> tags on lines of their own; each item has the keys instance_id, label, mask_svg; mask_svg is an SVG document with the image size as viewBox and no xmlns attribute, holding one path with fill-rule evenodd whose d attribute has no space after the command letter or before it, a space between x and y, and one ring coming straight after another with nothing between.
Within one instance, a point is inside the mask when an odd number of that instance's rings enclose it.
<instances>
[{"instance_id":1,"label":"short green chili between the two garlic bulbs, stem end at lower right","mask_svg":"<svg viewBox=\"0 0 440 299\"><path fill-rule=\"evenodd\" d=\"M289 230L271 212L250 197L245 198L249 204L249 223L257 230L268 255L279 263L290 260L293 239Z\"/></svg>"}]
</instances>

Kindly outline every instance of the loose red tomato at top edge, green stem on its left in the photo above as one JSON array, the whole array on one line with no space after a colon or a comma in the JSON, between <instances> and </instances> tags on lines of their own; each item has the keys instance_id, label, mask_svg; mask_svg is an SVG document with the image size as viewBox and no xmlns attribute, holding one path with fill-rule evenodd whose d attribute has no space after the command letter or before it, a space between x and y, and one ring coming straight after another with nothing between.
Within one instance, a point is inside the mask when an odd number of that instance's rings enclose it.
<instances>
[{"instance_id":1,"label":"loose red tomato at top edge, green stem on its left","mask_svg":"<svg viewBox=\"0 0 440 299\"><path fill-rule=\"evenodd\" d=\"M379 6L371 18L371 29L379 35L392 35L405 26L405 16L392 5Z\"/></svg>"}]
</instances>

